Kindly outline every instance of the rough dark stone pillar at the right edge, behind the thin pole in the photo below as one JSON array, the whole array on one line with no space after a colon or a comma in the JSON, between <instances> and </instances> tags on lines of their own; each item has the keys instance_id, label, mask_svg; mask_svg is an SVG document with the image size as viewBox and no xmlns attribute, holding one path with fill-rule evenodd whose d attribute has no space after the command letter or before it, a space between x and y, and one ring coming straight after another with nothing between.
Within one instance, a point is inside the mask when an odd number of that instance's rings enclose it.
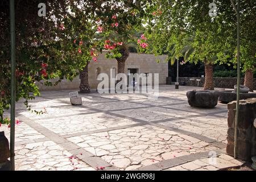
<instances>
[{"instance_id":1,"label":"rough dark stone pillar at the right edge, behind the thin pole","mask_svg":"<svg viewBox=\"0 0 256 182\"><path fill-rule=\"evenodd\" d=\"M228 104L228 144L226 152L234 156L234 123L236 120L236 101ZM237 132L237 157L242 160L249 160L256 156L256 98L249 98L240 101Z\"/></svg>"}]
</instances>

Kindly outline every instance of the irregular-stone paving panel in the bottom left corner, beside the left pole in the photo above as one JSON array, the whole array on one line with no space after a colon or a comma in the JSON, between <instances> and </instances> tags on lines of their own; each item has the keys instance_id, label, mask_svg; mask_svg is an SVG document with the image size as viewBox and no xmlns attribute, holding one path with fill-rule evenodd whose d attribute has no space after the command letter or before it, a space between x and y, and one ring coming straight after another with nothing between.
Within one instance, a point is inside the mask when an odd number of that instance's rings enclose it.
<instances>
[{"instance_id":1,"label":"irregular-stone paving panel in the bottom left corner, beside the left pole","mask_svg":"<svg viewBox=\"0 0 256 182\"><path fill-rule=\"evenodd\" d=\"M82 160L74 158L52 141L29 143L16 146L15 152L16 170L94 170Z\"/></svg>"}]
</instances>

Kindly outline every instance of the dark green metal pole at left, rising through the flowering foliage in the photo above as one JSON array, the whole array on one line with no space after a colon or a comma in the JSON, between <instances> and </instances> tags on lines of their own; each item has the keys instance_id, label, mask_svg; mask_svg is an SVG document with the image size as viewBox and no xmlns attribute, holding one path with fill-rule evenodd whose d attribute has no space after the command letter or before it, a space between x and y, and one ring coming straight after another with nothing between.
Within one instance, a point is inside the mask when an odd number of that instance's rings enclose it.
<instances>
[{"instance_id":1,"label":"dark green metal pole at left, rising through the flowering foliage","mask_svg":"<svg viewBox=\"0 0 256 182\"><path fill-rule=\"evenodd\" d=\"M11 28L11 132L10 132L10 151L11 151L11 170L15 170L14 162L14 140L15 140L15 8L14 0L10 0L10 28Z\"/></svg>"}]
</instances>

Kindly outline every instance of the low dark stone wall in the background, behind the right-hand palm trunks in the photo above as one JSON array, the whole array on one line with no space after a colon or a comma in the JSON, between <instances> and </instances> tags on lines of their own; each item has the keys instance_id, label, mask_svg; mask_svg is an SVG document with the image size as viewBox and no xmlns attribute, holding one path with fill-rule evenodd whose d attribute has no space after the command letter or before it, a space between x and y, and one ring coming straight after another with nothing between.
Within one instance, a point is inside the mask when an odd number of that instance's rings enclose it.
<instances>
[{"instance_id":1,"label":"low dark stone wall in the background, behind the right-hand palm trunks","mask_svg":"<svg viewBox=\"0 0 256 182\"><path fill-rule=\"evenodd\" d=\"M179 77L180 85L197 86L197 79L200 79L199 86L204 86L205 78L198 77ZM167 84L171 84L171 77L166 79ZM215 88L227 88L233 89L237 84L237 78L213 78ZM244 78L241 78L241 84L243 85ZM254 90L256 90L256 78L254 78Z\"/></svg>"}]
</instances>

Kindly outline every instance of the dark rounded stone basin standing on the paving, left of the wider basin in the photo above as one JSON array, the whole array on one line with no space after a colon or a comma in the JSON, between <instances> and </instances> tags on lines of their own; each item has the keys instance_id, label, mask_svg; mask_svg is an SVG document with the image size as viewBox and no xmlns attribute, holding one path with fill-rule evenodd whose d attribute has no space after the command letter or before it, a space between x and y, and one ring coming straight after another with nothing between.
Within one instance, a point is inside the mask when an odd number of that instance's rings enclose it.
<instances>
[{"instance_id":1,"label":"dark rounded stone basin standing on the paving, left of the wider basin","mask_svg":"<svg viewBox=\"0 0 256 182\"><path fill-rule=\"evenodd\" d=\"M213 108L218 104L218 93L213 90L188 91L187 98L192 107Z\"/></svg>"}]
</instances>

